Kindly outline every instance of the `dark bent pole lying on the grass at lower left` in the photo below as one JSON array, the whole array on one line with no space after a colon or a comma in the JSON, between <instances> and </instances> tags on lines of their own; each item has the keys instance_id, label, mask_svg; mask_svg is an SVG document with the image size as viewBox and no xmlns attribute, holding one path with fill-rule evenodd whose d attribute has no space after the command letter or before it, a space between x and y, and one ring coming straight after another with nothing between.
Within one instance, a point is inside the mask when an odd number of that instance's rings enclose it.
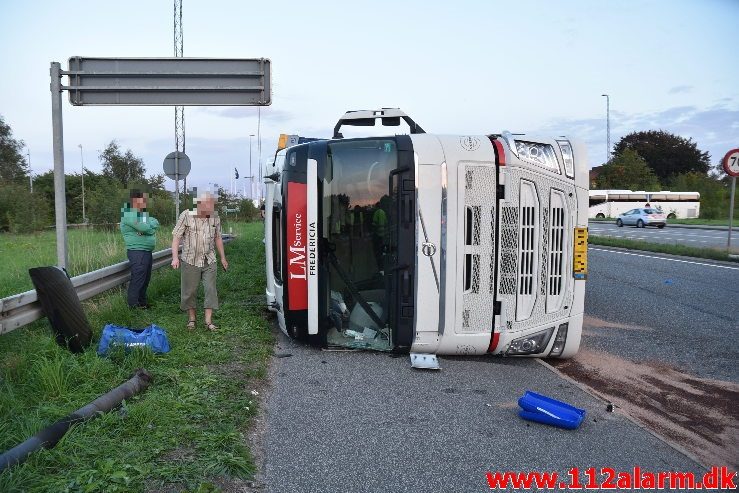
<instances>
[{"instance_id":1,"label":"dark bent pole lying on the grass at lower left","mask_svg":"<svg viewBox=\"0 0 739 493\"><path fill-rule=\"evenodd\" d=\"M146 390L152 382L152 376L139 368L128 381L122 383L110 392L101 395L88 405L76 410L72 414L60 419L25 442L0 455L0 472L6 468L24 462L29 455L41 448L53 448L72 425L98 416L100 413L118 407L124 399L133 397Z\"/></svg>"}]
</instances>

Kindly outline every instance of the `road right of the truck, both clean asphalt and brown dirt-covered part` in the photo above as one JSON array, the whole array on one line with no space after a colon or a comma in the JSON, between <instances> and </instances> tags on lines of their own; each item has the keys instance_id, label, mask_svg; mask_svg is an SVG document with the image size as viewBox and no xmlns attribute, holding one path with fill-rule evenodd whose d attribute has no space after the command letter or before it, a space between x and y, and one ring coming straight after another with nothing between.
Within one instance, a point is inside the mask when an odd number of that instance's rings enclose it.
<instances>
[{"instance_id":1,"label":"road right of the truck, both clean asphalt and brown dirt-covered part","mask_svg":"<svg viewBox=\"0 0 739 493\"><path fill-rule=\"evenodd\" d=\"M704 465L739 469L739 265L589 249L583 339L554 360Z\"/></svg>"}]
</instances>

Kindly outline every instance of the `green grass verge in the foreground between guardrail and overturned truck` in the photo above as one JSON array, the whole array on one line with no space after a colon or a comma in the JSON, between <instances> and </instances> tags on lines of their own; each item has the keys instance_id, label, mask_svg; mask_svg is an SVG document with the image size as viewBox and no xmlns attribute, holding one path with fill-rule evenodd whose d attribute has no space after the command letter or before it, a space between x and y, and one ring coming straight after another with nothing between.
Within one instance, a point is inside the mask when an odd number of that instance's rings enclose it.
<instances>
[{"instance_id":1,"label":"green grass verge in the foreground between guardrail and overturned truck","mask_svg":"<svg viewBox=\"0 0 739 493\"><path fill-rule=\"evenodd\" d=\"M0 450L6 450L121 384L136 368L154 382L119 409L76 425L53 449L0 474L0 491L219 491L252 478L247 432L259 407L273 338L250 299L264 293L263 229L234 225L230 268L219 272L219 332L185 328L179 273L155 271L153 308L131 311L112 290L83 303L93 345L74 355L57 346L46 319L0 336ZM202 289L201 289L202 291ZM202 292L201 292L202 302ZM167 330L172 350L95 354L106 323Z\"/></svg>"}]
</instances>

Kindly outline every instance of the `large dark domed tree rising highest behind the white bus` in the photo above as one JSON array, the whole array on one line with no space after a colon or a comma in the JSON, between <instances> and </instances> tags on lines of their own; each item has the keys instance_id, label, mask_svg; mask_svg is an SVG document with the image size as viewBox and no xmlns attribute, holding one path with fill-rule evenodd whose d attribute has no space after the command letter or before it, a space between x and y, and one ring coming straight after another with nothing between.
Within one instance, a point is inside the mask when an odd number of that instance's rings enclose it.
<instances>
[{"instance_id":1,"label":"large dark domed tree rising highest behind the white bus","mask_svg":"<svg viewBox=\"0 0 739 493\"><path fill-rule=\"evenodd\" d=\"M614 154L626 149L636 151L661 181L691 171L705 174L711 166L711 156L698 149L692 138L664 130L632 132L616 144Z\"/></svg>"}]
</instances>

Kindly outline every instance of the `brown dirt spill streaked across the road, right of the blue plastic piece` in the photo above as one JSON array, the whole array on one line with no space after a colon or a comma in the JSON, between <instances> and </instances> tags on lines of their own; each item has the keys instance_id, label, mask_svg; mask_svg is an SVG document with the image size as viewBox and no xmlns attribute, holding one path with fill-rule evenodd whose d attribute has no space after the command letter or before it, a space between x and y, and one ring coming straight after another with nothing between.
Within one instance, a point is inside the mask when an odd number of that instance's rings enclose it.
<instances>
[{"instance_id":1,"label":"brown dirt spill streaked across the road, right of the blue plastic piece","mask_svg":"<svg viewBox=\"0 0 739 493\"><path fill-rule=\"evenodd\" d=\"M739 467L739 385L594 350L550 364L703 465Z\"/></svg>"}]
</instances>

